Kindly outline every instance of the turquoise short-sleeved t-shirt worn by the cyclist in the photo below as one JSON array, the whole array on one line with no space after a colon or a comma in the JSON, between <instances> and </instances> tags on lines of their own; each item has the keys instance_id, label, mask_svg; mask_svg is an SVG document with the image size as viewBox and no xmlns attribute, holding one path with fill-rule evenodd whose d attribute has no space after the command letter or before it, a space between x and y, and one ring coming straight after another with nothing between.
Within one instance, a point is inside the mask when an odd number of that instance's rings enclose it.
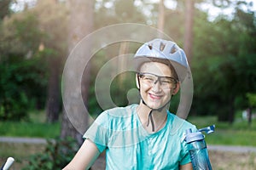
<instances>
[{"instance_id":1,"label":"turquoise short-sleeved t-shirt worn by the cyclist","mask_svg":"<svg viewBox=\"0 0 256 170\"><path fill-rule=\"evenodd\" d=\"M137 105L102 112L85 139L106 150L106 169L178 169L190 162L185 131L196 128L167 111L165 127L148 133L137 116Z\"/></svg>"}]
</instances>

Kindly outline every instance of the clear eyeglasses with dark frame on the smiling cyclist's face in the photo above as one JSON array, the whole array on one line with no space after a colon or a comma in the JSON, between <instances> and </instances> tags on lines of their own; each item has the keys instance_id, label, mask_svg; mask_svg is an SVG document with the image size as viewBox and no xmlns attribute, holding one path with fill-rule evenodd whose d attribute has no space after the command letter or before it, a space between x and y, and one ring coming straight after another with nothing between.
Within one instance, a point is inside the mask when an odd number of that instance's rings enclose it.
<instances>
[{"instance_id":1,"label":"clear eyeglasses with dark frame on the smiling cyclist's face","mask_svg":"<svg viewBox=\"0 0 256 170\"><path fill-rule=\"evenodd\" d=\"M173 85L175 86L177 83L177 79L174 77L160 77L147 72L138 72L137 76L140 78L141 82L152 87L157 82L160 82L160 88L173 88Z\"/></svg>"}]
</instances>

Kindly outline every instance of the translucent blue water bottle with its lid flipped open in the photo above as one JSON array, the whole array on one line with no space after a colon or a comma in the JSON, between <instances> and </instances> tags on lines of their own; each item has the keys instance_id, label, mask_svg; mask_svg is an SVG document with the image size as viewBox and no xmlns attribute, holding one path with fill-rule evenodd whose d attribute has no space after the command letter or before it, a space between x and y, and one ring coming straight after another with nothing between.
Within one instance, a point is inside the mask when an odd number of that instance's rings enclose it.
<instances>
[{"instance_id":1,"label":"translucent blue water bottle with its lid flipped open","mask_svg":"<svg viewBox=\"0 0 256 170\"><path fill-rule=\"evenodd\" d=\"M201 132L213 133L215 126L205 127L192 133L189 128L186 131L186 142L189 146L189 155L192 161L193 170L212 170L208 156L205 137Z\"/></svg>"}]
</instances>

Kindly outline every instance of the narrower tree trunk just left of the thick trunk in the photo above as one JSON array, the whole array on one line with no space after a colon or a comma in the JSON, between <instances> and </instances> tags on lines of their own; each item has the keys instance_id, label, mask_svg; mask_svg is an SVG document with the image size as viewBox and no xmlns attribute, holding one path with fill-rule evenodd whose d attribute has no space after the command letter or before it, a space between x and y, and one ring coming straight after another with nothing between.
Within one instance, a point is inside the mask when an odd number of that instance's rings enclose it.
<instances>
[{"instance_id":1,"label":"narrower tree trunk just left of the thick trunk","mask_svg":"<svg viewBox=\"0 0 256 170\"><path fill-rule=\"evenodd\" d=\"M47 12L44 11L38 15L39 27L47 32L50 37L50 40L48 40L48 38L42 39L39 50L44 51L45 59L47 59L49 64L48 94L45 109L46 120L47 122L57 122L59 121L61 110L61 68L63 64L63 55L67 51L67 49L63 47L63 43L59 42L67 41L67 9L63 8L59 2L52 0L45 0L44 2L40 1L36 8L37 11L40 11L49 6L50 8L47 9ZM55 13L55 11L61 12L56 12L55 16L49 17L49 15ZM61 25L56 24L58 20L62 20ZM53 27L55 29L52 29ZM59 34L60 31L64 36ZM44 44L47 49L44 49Z\"/></svg>"}]
</instances>

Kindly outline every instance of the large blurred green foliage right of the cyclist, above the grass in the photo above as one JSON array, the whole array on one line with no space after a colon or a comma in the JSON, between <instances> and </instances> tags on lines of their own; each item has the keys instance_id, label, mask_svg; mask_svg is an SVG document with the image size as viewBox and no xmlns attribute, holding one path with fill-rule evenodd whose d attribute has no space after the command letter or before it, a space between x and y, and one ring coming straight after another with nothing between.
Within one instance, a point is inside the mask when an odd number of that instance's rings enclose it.
<instances>
[{"instance_id":1,"label":"large blurred green foliage right of the cyclist, above the grass","mask_svg":"<svg viewBox=\"0 0 256 170\"><path fill-rule=\"evenodd\" d=\"M255 17L236 8L235 18L195 20L192 111L234 121L236 110L248 107L246 94L256 91Z\"/></svg>"}]
</instances>

